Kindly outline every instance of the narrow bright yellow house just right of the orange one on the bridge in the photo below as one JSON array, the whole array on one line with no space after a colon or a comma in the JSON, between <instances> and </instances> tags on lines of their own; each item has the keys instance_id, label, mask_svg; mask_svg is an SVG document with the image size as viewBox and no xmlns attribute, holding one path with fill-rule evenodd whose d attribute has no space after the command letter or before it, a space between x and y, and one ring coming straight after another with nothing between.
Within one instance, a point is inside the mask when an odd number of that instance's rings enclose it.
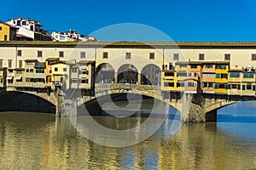
<instances>
[{"instance_id":1,"label":"narrow bright yellow house just right of the orange one on the bridge","mask_svg":"<svg viewBox=\"0 0 256 170\"><path fill-rule=\"evenodd\" d=\"M228 94L230 62L218 61L215 65L215 94Z\"/></svg>"}]
</instances>

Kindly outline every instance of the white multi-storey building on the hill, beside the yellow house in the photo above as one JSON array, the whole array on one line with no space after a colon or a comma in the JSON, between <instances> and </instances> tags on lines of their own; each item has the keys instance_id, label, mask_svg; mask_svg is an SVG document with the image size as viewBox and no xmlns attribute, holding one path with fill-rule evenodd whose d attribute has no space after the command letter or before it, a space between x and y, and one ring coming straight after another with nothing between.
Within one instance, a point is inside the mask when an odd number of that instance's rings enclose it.
<instances>
[{"instance_id":1,"label":"white multi-storey building on the hill, beside the yellow house","mask_svg":"<svg viewBox=\"0 0 256 170\"><path fill-rule=\"evenodd\" d=\"M9 26L18 27L18 41L52 41L47 31L42 29L40 22L24 18L11 19L6 22Z\"/></svg>"}]
</instances>

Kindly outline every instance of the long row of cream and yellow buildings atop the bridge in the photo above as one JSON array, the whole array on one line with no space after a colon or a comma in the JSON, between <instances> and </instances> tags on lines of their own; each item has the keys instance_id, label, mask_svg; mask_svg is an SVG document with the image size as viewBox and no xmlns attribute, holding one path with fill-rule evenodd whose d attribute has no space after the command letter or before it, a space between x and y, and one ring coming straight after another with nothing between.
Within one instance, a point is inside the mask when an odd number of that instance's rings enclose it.
<instances>
[{"instance_id":1,"label":"long row of cream and yellow buildings atop the bridge","mask_svg":"<svg viewBox=\"0 0 256 170\"><path fill-rule=\"evenodd\" d=\"M90 89L96 81L189 94L255 93L253 42L0 42L0 61L6 86L36 78L38 87L51 88Z\"/></svg>"}]
</instances>

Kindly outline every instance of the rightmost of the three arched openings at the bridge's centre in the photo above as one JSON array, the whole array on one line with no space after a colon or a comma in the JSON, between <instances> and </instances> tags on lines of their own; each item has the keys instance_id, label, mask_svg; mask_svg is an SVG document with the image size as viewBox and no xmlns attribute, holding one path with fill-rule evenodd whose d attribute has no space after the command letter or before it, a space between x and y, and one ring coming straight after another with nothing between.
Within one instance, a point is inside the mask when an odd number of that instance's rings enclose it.
<instances>
[{"instance_id":1,"label":"rightmost of the three arched openings at the bridge's centre","mask_svg":"<svg viewBox=\"0 0 256 170\"><path fill-rule=\"evenodd\" d=\"M154 64L144 66L141 78L142 78L141 83L143 85L160 86L160 78L161 78L160 67Z\"/></svg>"}]
</instances>

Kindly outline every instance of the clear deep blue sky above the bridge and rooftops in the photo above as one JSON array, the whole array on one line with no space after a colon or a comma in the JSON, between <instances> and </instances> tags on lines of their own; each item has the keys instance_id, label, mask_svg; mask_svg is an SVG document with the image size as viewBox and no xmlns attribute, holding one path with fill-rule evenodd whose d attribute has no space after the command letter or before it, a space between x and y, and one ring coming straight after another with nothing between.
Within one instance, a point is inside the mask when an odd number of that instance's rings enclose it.
<instances>
[{"instance_id":1,"label":"clear deep blue sky above the bridge and rooftops","mask_svg":"<svg viewBox=\"0 0 256 170\"><path fill-rule=\"evenodd\" d=\"M48 31L90 34L104 26L138 23L174 41L256 41L254 0L3 1L0 20L29 17Z\"/></svg>"}]
</instances>

